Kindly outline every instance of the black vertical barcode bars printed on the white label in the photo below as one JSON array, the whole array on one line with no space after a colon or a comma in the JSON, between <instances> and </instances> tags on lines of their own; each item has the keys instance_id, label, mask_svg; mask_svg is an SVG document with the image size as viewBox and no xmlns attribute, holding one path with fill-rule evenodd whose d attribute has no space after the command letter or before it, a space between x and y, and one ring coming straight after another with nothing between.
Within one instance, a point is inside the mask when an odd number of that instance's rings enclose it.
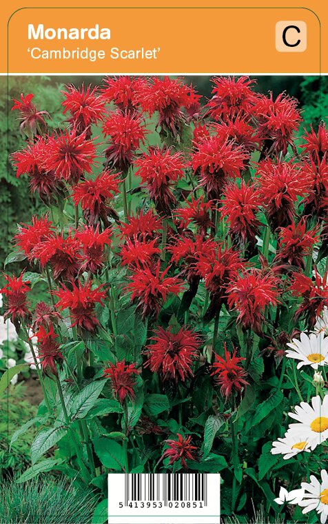
<instances>
[{"instance_id":1,"label":"black vertical barcode bars printed on the white label","mask_svg":"<svg viewBox=\"0 0 328 524\"><path fill-rule=\"evenodd\" d=\"M202 502L207 506L207 474L125 474L125 506L131 502Z\"/></svg>"}]
</instances>

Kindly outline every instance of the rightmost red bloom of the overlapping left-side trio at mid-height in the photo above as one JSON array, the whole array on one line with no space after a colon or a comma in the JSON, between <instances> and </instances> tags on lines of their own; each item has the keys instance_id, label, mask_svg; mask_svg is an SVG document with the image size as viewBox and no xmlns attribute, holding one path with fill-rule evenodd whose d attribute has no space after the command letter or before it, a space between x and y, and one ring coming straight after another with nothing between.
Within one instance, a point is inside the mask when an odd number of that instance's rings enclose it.
<instances>
[{"instance_id":1,"label":"rightmost red bloom of the overlapping left-side trio at mid-height","mask_svg":"<svg viewBox=\"0 0 328 524\"><path fill-rule=\"evenodd\" d=\"M83 246L85 261L81 265L81 271L96 273L103 267L105 262L105 245L112 243L110 239L110 229L105 229L99 233L99 226L96 229L92 225L85 225L83 231L76 232L78 239Z\"/></svg>"}]
</instances>

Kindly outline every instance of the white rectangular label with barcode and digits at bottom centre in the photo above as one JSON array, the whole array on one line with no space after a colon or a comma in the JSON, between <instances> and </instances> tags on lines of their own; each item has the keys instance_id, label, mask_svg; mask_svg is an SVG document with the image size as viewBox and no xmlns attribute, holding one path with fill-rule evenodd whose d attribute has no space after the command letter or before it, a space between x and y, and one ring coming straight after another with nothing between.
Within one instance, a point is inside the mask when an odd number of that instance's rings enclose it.
<instances>
[{"instance_id":1,"label":"white rectangular label with barcode and digits at bottom centre","mask_svg":"<svg viewBox=\"0 0 328 524\"><path fill-rule=\"evenodd\" d=\"M108 475L109 524L218 524L220 475Z\"/></svg>"}]
</instances>

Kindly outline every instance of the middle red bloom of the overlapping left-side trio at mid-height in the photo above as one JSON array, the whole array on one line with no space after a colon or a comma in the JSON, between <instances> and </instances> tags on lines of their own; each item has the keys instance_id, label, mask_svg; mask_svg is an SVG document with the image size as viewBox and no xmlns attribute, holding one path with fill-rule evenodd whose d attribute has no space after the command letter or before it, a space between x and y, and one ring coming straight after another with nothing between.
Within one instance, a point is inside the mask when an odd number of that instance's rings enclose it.
<instances>
[{"instance_id":1,"label":"middle red bloom of the overlapping left-side trio at mid-height","mask_svg":"<svg viewBox=\"0 0 328 524\"><path fill-rule=\"evenodd\" d=\"M39 260L41 268L50 263L54 279L72 279L80 268L81 254L79 253L81 244L74 236L67 236L63 233L50 236L45 241L35 246L33 250L34 258Z\"/></svg>"}]
</instances>

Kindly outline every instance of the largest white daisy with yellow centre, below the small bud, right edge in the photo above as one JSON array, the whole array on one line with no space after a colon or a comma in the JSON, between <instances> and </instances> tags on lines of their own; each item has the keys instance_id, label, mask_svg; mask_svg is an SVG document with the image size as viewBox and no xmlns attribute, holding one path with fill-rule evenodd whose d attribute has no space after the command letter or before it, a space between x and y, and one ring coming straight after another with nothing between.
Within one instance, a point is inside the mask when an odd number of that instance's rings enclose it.
<instances>
[{"instance_id":1,"label":"largest white daisy with yellow centre, below the small bud, right edge","mask_svg":"<svg viewBox=\"0 0 328 524\"><path fill-rule=\"evenodd\" d=\"M311 450L328 439L328 395L321 401L320 396L314 396L311 404L301 402L295 406L295 413L289 413L298 423L289 424L289 429L297 432L300 441L309 442Z\"/></svg>"}]
</instances>

